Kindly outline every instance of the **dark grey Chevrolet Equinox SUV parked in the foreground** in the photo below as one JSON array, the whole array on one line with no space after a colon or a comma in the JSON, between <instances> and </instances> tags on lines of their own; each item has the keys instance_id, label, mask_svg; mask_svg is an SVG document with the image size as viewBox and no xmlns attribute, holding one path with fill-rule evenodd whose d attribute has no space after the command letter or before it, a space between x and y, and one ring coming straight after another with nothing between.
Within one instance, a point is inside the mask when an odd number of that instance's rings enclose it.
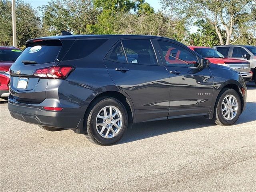
<instances>
[{"instance_id":1,"label":"dark grey Chevrolet Equinox SUV parked in the foreground","mask_svg":"<svg viewBox=\"0 0 256 192\"><path fill-rule=\"evenodd\" d=\"M101 145L117 142L130 123L202 115L231 125L246 104L238 72L156 36L28 40L10 73L12 117Z\"/></svg>"}]
</instances>

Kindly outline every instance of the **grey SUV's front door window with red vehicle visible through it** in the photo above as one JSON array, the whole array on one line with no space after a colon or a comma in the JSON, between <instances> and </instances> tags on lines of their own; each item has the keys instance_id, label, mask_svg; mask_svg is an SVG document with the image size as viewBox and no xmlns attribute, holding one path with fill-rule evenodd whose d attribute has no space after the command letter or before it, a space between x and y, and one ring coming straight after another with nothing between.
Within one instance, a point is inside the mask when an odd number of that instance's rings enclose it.
<instances>
[{"instance_id":1,"label":"grey SUV's front door window with red vehicle visible through it","mask_svg":"<svg viewBox=\"0 0 256 192\"><path fill-rule=\"evenodd\" d=\"M185 48L167 41L158 40L160 45L160 54L164 56L166 65L168 66L188 66L197 67L199 65L198 58Z\"/></svg>"}]
</instances>

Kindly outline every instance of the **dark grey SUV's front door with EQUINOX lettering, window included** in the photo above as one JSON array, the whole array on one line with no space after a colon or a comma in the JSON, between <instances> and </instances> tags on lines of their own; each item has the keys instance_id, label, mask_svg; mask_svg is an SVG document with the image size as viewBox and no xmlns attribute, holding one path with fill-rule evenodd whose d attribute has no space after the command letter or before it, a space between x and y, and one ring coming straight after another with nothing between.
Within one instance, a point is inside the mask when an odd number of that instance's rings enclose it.
<instances>
[{"instance_id":1,"label":"dark grey SUV's front door with EQUINOX lettering, window included","mask_svg":"<svg viewBox=\"0 0 256 192\"><path fill-rule=\"evenodd\" d=\"M160 54L170 75L169 117L208 114L213 78L208 68L199 68L197 56L185 46L158 40Z\"/></svg>"}]
</instances>

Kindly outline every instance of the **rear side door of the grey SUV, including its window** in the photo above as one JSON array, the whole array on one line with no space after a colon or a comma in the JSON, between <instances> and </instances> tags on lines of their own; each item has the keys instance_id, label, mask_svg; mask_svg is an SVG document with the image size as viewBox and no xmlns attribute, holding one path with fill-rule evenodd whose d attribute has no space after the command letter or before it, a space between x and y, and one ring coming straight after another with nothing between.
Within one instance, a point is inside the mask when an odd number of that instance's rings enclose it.
<instances>
[{"instance_id":1,"label":"rear side door of the grey SUV, including its window","mask_svg":"<svg viewBox=\"0 0 256 192\"><path fill-rule=\"evenodd\" d=\"M170 78L162 63L158 64L151 40L118 42L104 64L116 86L130 96L136 122L167 119Z\"/></svg>"}]
</instances>

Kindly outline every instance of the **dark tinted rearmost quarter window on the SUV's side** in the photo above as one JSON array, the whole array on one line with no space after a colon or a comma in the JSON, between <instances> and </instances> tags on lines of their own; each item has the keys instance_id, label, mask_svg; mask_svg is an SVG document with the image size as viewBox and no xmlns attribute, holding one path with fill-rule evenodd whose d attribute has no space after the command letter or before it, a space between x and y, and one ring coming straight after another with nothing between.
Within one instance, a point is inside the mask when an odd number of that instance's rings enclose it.
<instances>
[{"instance_id":1,"label":"dark tinted rearmost quarter window on the SUV's side","mask_svg":"<svg viewBox=\"0 0 256 192\"><path fill-rule=\"evenodd\" d=\"M94 52L108 39L76 40L63 60L84 58Z\"/></svg>"}]
</instances>

